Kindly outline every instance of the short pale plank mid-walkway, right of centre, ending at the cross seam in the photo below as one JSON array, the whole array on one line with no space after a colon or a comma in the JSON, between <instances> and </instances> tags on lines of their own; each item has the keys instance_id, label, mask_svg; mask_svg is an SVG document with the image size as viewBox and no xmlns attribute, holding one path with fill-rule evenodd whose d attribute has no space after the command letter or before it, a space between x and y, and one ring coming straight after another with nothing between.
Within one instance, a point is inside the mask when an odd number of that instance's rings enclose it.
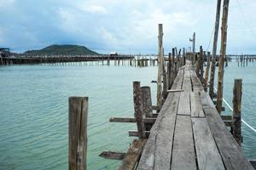
<instances>
[{"instance_id":1,"label":"short pale plank mid-walkway, right of centre, ending at the cross seam","mask_svg":"<svg viewBox=\"0 0 256 170\"><path fill-rule=\"evenodd\" d=\"M204 117L205 113L201 106L201 99L197 92L190 93L191 116Z\"/></svg>"}]
</instances>

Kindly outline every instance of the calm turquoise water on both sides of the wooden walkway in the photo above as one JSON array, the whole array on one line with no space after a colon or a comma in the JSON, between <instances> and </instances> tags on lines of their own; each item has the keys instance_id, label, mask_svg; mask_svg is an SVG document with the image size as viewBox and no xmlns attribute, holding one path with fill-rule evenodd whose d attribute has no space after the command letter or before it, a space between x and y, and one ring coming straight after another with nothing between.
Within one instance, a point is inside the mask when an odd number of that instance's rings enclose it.
<instances>
[{"instance_id":1,"label":"calm turquoise water on both sides of the wooden walkway","mask_svg":"<svg viewBox=\"0 0 256 170\"><path fill-rule=\"evenodd\" d=\"M230 63L224 97L231 104L234 78L243 78L242 116L256 127L256 63ZM102 65L11 65L0 67L0 169L67 169L67 99L89 96L88 169L116 169L119 161L98 155L127 150L135 124L110 123L109 116L133 116L132 82L151 86L156 67ZM227 114L230 114L226 107ZM256 158L256 134L242 126L243 150Z\"/></svg>"}]
</instances>

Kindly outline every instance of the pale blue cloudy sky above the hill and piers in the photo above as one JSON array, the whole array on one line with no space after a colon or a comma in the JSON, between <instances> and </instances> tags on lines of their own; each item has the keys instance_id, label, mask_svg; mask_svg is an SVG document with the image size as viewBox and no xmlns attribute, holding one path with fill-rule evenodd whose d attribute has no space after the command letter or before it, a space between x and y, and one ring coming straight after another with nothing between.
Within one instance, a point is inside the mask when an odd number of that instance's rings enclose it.
<instances>
[{"instance_id":1,"label":"pale blue cloudy sky above the hill and piers","mask_svg":"<svg viewBox=\"0 0 256 170\"><path fill-rule=\"evenodd\" d=\"M102 54L157 54L161 23L165 53L173 47L189 48L194 31L196 49L202 45L211 51L216 3L217 0L0 0L0 47L23 53L51 44L78 44ZM228 54L256 54L255 8L255 0L230 0Z\"/></svg>"}]
</instances>

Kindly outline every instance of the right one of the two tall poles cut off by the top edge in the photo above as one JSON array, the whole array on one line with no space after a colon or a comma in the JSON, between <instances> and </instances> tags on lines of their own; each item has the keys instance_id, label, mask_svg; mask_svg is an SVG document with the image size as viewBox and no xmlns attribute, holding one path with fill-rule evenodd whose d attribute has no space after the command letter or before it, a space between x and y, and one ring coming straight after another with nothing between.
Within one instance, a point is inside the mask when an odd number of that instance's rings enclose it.
<instances>
[{"instance_id":1,"label":"right one of the two tall poles cut off by the top edge","mask_svg":"<svg viewBox=\"0 0 256 170\"><path fill-rule=\"evenodd\" d=\"M218 113L221 113L222 111L224 58L226 55L226 45L227 45L229 3L230 3L230 0L224 0L222 27L221 27L221 48L220 48L220 56L218 60L218 92L217 92L217 105L216 105Z\"/></svg>"}]
</instances>

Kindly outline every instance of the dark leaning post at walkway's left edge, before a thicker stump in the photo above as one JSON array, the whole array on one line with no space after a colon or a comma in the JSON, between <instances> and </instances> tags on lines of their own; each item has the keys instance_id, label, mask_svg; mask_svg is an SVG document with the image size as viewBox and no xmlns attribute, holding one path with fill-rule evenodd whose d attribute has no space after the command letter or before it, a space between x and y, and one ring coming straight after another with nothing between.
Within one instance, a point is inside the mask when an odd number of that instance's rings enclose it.
<instances>
[{"instance_id":1,"label":"dark leaning post at walkway's left edge, before a thicker stump","mask_svg":"<svg viewBox=\"0 0 256 170\"><path fill-rule=\"evenodd\" d=\"M146 139L145 126L143 121L143 100L140 82L133 82L133 102L134 116L137 122L137 132L139 139Z\"/></svg>"}]
</instances>

